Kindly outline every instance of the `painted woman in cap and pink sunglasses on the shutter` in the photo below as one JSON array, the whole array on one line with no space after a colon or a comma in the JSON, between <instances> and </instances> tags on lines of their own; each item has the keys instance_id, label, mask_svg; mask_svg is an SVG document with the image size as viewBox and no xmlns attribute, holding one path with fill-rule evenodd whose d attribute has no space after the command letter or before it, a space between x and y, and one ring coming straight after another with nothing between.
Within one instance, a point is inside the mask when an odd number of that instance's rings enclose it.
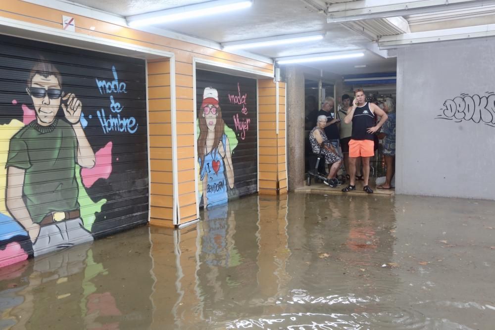
<instances>
[{"instance_id":1,"label":"painted woman in cap and pink sunglasses on the shutter","mask_svg":"<svg viewBox=\"0 0 495 330\"><path fill-rule=\"evenodd\" d=\"M227 184L234 188L234 167L218 91L206 87L199 109L198 163L203 205L208 209L228 200Z\"/></svg>"}]
</instances>

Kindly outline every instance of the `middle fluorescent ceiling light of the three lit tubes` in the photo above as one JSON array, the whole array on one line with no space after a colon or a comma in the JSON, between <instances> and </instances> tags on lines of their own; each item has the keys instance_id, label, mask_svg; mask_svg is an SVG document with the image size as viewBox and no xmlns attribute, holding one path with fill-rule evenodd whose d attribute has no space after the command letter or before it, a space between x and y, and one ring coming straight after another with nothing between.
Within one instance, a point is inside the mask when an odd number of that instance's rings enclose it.
<instances>
[{"instance_id":1,"label":"middle fluorescent ceiling light of the three lit tubes","mask_svg":"<svg viewBox=\"0 0 495 330\"><path fill-rule=\"evenodd\" d=\"M233 41L228 43L222 43L222 47L224 49L232 50L232 49L247 49L247 48L256 48L256 47L288 45L288 44L297 44L308 41L321 40L323 39L324 36L325 36L324 32L299 33L294 35Z\"/></svg>"}]
</instances>

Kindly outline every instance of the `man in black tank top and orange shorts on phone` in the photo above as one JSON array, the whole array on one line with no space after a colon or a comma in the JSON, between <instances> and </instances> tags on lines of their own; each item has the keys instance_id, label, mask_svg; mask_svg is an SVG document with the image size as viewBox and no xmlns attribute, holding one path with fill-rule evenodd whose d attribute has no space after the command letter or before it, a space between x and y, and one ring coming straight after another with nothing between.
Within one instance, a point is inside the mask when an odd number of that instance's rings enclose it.
<instances>
[{"instance_id":1,"label":"man in black tank top and orange shorts on phone","mask_svg":"<svg viewBox=\"0 0 495 330\"><path fill-rule=\"evenodd\" d=\"M387 121L388 116L385 111L380 109L376 104L366 102L366 96L362 89L354 91L355 99L352 107L347 110L344 118L345 123L352 122L352 136L349 141L349 170L350 184L342 191L347 192L355 190L356 158L362 157L364 188L367 193L373 193L369 186L370 175L370 157L375 155L374 135L383 124ZM374 125L375 114L381 117L378 124Z\"/></svg>"}]
</instances>

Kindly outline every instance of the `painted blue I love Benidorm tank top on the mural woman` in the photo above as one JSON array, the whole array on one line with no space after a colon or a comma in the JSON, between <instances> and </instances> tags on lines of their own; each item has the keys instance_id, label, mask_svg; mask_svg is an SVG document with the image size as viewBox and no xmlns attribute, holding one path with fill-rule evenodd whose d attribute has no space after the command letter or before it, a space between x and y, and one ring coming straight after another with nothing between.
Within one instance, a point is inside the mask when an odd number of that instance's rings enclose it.
<instances>
[{"instance_id":1,"label":"painted blue I love Benidorm tank top on the mural woman","mask_svg":"<svg viewBox=\"0 0 495 330\"><path fill-rule=\"evenodd\" d=\"M225 152L227 135L222 136L222 143ZM198 159L201 168L201 159ZM208 198L207 208L227 202L227 180L225 179L225 164L218 147L213 148L204 156L204 166L200 173L200 180L203 181L207 175L206 196ZM203 182L204 185L204 182ZM200 191L202 193L202 191Z\"/></svg>"}]
</instances>

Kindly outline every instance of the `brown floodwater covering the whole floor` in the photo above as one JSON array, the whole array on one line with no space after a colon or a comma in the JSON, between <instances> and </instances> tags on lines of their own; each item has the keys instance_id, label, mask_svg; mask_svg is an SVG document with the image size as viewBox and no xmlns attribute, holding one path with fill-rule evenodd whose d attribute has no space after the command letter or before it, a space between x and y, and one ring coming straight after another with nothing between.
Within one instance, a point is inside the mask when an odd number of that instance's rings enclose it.
<instances>
[{"instance_id":1,"label":"brown floodwater covering the whole floor","mask_svg":"<svg viewBox=\"0 0 495 330\"><path fill-rule=\"evenodd\" d=\"M0 329L495 329L493 201L248 196L0 269Z\"/></svg>"}]
</instances>

